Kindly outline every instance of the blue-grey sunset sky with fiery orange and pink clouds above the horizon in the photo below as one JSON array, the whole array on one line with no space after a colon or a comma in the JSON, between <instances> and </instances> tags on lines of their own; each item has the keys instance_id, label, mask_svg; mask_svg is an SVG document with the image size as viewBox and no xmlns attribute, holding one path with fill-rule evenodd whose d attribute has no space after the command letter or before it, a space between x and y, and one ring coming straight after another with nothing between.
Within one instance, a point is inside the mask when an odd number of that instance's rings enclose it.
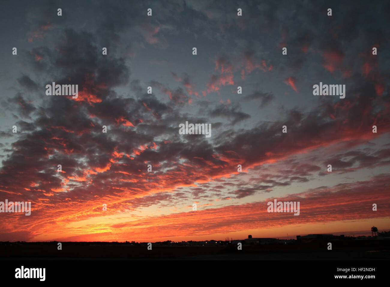
<instances>
[{"instance_id":1,"label":"blue-grey sunset sky with fiery orange and pink clouds above the horizon","mask_svg":"<svg viewBox=\"0 0 390 287\"><path fill-rule=\"evenodd\" d=\"M32 212L0 213L0 241L390 230L388 1L1 10L0 201ZM78 98L46 95L52 82L77 84ZM345 98L314 96L320 82L345 84ZM179 134L186 121L211 123L211 137ZM274 199L300 201L300 215L267 212Z\"/></svg>"}]
</instances>

